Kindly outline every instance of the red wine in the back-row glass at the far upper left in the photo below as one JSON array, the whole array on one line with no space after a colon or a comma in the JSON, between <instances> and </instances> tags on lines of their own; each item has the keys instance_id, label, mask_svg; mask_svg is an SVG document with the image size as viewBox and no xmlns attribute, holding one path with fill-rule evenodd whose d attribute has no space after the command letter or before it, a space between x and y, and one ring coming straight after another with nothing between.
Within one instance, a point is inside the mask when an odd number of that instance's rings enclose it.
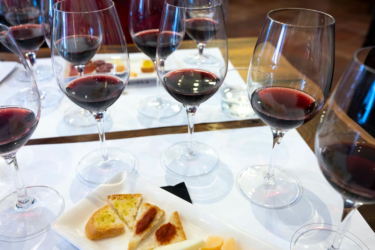
<instances>
[{"instance_id":1,"label":"red wine in the back-row glass at the far upper left","mask_svg":"<svg viewBox=\"0 0 375 250\"><path fill-rule=\"evenodd\" d=\"M41 24L21 24L9 29L22 52L36 51L44 42Z\"/></svg>"}]
</instances>

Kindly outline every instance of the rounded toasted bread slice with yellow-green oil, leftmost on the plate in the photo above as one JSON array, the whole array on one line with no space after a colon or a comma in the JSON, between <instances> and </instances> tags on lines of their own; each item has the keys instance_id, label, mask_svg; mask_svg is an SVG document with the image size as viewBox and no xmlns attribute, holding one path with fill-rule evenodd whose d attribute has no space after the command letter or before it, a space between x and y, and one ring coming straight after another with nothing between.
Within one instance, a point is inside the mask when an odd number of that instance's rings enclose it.
<instances>
[{"instance_id":1,"label":"rounded toasted bread slice with yellow-green oil, leftmost on the plate","mask_svg":"<svg viewBox=\"0 0 375 250\"><path fill-rule=\"evenodd\" d=\"M123 233L125 226L109 205L98 209L86 223L85 232L89 239L102 239Z\"/></svg>"}]
</instances>

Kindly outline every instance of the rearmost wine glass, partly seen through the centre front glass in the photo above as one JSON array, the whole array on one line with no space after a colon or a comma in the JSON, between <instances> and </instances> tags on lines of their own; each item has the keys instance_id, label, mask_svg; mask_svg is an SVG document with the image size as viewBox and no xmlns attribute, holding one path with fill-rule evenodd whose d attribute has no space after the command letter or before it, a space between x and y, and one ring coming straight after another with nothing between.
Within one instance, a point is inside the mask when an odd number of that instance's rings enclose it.
<instances>
[{"instance_id":1,"label":"rearmost wine glass, partly seen through the centre front glass","mask_svg":"<svg viewBox=\"0 0 375 250\"><path fill-rule=\"evenodd\" d=\"M208 0L194 0L195 6L205 6L206 4L214 1ZM226 6L226 9L224 7ZM228 3L222 5L223 13L228 14ZM224 11L225 10L225 11ZM196 42L198 47L198 54L191 54L185 57L184 62L195 65L201 64L216 64L217 58L210 54L203 54L204 48L207 43L213 38L219 23L214 18L211 9L189 9L186 14L186 34Z\"/></svg>"}]
</instances>

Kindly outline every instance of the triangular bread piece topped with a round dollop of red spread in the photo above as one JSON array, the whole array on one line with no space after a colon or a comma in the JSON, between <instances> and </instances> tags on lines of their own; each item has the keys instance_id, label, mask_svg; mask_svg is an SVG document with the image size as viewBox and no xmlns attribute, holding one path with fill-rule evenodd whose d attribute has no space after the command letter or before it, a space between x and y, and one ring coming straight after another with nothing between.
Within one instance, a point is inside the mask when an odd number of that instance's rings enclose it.
<instances>
[{"instance_id":1,"label":"triangular bread piece topped with a round dollop of red spread","mask_svg":"<svg viewBox=\"0 0 375 250\"><path fill-rule=\"evenodd\" d=\"M142 245L140 249L151 250L155 247L169 245L184 240L186 240L185 231L180 216L178 215L178 212L175 211L171 214L167 223L160 226L152 235L151 239Z\"/></svg>"}]
</instances>

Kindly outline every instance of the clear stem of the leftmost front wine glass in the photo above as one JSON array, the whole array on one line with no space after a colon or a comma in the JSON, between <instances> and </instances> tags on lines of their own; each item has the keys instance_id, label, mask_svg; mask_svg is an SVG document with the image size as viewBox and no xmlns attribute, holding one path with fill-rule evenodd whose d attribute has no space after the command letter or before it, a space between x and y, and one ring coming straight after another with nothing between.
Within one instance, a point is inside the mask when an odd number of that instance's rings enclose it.
<instances>
[{"instance_id":1,"label":"clear stem of the leftmost front wine glass","mask_svg":"<svg viewBox=\"0 0 375 250\"><path fill-rule=\"evenodd\" d=\"M34 203L34 198L27 193L25 185L23 184L20 169L18 168L17 164L16 154L4 157L4 160L8 165L10 174L13 178L13 183L16 187L16 192L18 196L16 207L20 209L27 208L28 206Z\"/></svg>"}]
</instances>

